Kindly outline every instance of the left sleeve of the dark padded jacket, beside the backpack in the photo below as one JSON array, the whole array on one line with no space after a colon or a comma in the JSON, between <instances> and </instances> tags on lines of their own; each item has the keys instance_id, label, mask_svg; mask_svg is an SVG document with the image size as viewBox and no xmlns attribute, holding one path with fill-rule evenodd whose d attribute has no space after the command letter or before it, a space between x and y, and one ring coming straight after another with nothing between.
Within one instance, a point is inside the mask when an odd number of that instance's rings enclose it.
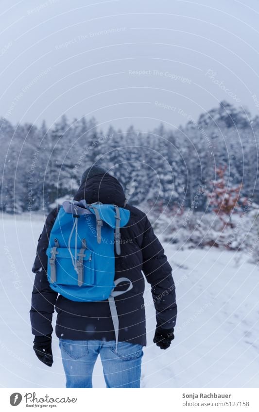
<instances>
[{"instance_id":1,"label":"left sleeve of the dark padded jacket, beside the backpack","mask_svg":"<svg viewBox=\"0 0 259 412\"><path fill-rule=\"evenodd\" d=\"M32 307L30 310L32 333L42 336L51 334L52 314L55 309L57 293L54 292L47 278L47 255L46 250L49 245L49 237L52 226L55 222L58 209L53 209L47 216L43 231L38 240L36 258L33 265L35 275Z\"/></svg>"}]
</instances>

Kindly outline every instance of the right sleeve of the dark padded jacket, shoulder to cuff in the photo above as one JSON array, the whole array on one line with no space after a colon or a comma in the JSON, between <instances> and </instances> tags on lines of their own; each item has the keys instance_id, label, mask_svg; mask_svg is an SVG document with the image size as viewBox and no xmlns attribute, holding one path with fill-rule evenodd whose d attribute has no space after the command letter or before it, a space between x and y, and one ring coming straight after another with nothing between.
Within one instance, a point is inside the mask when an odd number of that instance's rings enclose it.
<instances>
[{"instance_id":1,"label":"right sleeve of the dark padded jacket, shoulder to cuff","mask_svg":"<svg viewBox=\"0 0 259 412\"><path fill-rule=\"evenodd\" d=\"M171 329L175 326L177 316L172 267L167 261L164 249L155 236L147 216L145 216L144 221L142 270L151 285L156 324L162 328Z\"/></svg>"}]
</instances>

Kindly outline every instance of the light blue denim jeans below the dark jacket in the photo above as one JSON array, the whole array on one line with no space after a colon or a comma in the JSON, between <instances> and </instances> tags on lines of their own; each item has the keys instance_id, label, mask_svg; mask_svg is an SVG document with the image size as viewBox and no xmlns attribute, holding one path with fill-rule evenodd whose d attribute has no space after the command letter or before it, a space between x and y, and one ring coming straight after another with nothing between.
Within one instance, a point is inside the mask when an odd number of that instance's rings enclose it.
<instances>
[{"instance_id":1,"label":"light blue denim jeans below the dark jacket","mask_svg":"<svg viewBox=\"0 0 259 412\"><path fill-rule=\"evenodd\" d=\"M92 374L98 355L107 388L139 388L142 346L129 342L74 341L60 339L66 388L92 388Z\"/></svg>"}]
</instances>

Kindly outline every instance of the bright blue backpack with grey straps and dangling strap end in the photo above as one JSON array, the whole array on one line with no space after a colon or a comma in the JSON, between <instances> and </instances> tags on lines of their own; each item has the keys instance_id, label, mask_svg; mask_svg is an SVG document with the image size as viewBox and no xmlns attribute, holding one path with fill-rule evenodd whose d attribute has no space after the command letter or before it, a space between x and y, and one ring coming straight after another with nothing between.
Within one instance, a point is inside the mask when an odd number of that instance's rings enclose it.
<instances>
[{"instance_id":1,"label":"bright blue backpack with grey straps and dangling strap end","mask_svg":"<svg viewBox=\"0 0 259 412\"><path fill-rule=\"evenodd\" d=\"M116 205L86 200L65 201L50 234L47 276L50 287L77 302L108 299L116 338L119 319L114 297L132 289L127 278L114 280L115 253L121 254L120 228L130 212ZM129 282L125 291L115 292L122 281Z\"/></svg>"}]
</instances>

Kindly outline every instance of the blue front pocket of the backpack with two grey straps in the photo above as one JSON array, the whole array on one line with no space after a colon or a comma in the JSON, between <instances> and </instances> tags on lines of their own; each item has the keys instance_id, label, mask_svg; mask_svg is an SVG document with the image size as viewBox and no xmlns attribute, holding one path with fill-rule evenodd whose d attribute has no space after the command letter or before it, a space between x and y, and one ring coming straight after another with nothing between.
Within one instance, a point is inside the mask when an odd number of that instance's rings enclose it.
<instances>
[{"instance_id":1,"label":"blue front pocket of the backpack with two grey straps","mask_svg":"<svg viewBox=\"0 0 259 412\"><path fill-rule=\"evenodd\" d=\"M67 247L48 247L49 282L70 286L91 286L94 284L92 251Z\"/></svg>"}]
</instances>

